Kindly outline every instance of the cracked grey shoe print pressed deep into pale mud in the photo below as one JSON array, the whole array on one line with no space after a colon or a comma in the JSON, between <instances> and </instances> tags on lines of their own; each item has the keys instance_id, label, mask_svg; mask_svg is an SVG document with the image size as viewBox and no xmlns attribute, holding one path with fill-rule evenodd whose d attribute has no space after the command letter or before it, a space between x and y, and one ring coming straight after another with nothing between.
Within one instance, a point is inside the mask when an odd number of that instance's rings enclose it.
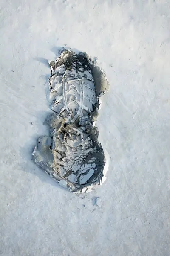
<instances>
[{"instance_id":1,"label":"cracked grey shoe print pressed deep into pale mud","mask_svg":"<svg viewBox=\"0 0 170 256\"><path fill-rule=\"evenodd\" d=\"M40 137L34 162L72 192L90 192L105 181L106 159L94 126L99 97L108 90L105 73L84 52L62 49L51 61L50 136Z\"/></svg>"}]
</instances>

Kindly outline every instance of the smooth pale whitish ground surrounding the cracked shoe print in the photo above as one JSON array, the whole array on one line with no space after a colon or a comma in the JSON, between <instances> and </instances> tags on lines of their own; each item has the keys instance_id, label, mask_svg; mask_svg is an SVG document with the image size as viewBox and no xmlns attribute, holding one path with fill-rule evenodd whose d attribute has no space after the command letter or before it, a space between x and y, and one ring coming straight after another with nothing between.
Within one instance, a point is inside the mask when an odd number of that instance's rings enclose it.
<instances>
[{"instance_id":1,"label":"smooth pale whitish ground surrounding the cracked shoe print","mask_svg":"<svg viewBox=\"0 0 170 256\"><path fill-rule=\"evenodd\" d=\"M108 179L87 195L31 161L57 47L98 57ZM170 1L0 1L0 255L170 255ZM99 197L97 206L96 197Z\"/></svg>"}]
</instances>

